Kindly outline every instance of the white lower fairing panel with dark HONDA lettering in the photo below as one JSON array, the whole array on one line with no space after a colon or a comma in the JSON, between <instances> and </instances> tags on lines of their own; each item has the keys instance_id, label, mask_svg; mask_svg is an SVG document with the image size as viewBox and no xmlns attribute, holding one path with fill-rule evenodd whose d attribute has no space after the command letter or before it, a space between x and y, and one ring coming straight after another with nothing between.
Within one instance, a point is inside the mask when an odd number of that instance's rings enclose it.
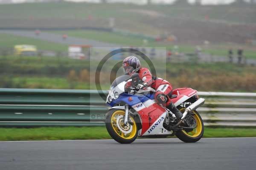
<instances>
[{"instance_id":1,"label":"white lower fairing panel with dark HONDA lettering","mask_svg":"<svg viewBox=\"0 0 256 170\"><path fill-rule=\"evenodd\" d=\"M164 112L152 125L148 128L148 130L142 135L170 135L172 131L168 131L163 127L163 121L166 118L166 112Z\"/></svg>"}]
</instances>

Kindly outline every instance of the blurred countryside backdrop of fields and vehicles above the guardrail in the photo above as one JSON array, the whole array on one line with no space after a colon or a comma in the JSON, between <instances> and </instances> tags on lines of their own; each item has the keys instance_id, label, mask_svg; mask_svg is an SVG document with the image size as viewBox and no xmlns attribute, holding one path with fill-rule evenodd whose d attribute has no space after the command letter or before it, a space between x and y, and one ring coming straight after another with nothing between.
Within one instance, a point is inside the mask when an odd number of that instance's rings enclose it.
<instances>
[{"instance_id":1,"label":"blurred countryside backdrop of fields and vehicles above the guardrail","mask_svg":"<svg viewBox=\"0 0 256 170\"><path fill-rule=\"evenodd\" d=\"M0 0L0 88L95 89L90 71L122 47L174 88L256 92L256 1Z\"/></svg>"}]
</instances>

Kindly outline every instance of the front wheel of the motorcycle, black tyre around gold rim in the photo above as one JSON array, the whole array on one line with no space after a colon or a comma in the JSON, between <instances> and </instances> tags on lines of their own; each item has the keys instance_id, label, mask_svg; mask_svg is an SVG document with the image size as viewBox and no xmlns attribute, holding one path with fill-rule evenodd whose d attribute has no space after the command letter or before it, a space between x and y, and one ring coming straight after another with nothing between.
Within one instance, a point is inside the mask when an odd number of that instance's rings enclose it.
<instances>
[{"instance_id":1,"label":"front wheel of the motorcycle, black tyre around gold rim","mask_svg":"<svg viewBox=\"0 0 256 170\"><path fill-rule=\"evenodd\" d=\"M121 143L130 144L138 135L138 127L132 116L130 116L131 124L124 124L125 110L111 109L107 113L105 120L106 128L111 137Z\"/></svg>"}]
</instances>

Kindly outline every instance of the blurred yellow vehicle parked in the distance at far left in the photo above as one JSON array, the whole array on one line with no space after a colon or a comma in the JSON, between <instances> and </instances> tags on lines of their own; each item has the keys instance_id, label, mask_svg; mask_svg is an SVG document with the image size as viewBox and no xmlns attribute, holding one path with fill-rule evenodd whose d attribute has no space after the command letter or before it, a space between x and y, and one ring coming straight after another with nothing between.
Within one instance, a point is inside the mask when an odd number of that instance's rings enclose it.
<instances>
[{"instance_id":1,"label":"blurred yellow vehicle parked in the distance at far left","mask_svg":"<svg viewBox=\"0 0 256 170\"><path fill-rule=\"evenodd\" d=\"M14 46L14 54L19 56L36 56L37 48L33 45L16 45Z\"/></svg>"}]
</instances>

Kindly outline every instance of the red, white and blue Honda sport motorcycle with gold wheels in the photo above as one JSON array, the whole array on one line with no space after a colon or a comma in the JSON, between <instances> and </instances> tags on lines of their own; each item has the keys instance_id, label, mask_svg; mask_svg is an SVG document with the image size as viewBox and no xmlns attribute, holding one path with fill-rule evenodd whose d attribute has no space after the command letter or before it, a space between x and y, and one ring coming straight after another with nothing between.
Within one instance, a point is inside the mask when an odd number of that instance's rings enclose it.
<instances>
[{"instance_id":1,"label":"red, white and blue Honda sport motorcycle with gold wheels","mask_svg":"<svg viewBox=\"0 0 256 170\"><path fill-rule=\"evenodd\" d=\"M110 106L105 125L111 137L121 143L132 143L137 136L163 138L176 135L183 142L199 141L204 134L204 123L196 111L204 98L191 88L174 89L170 99L183 113L177 122L175 115L154 100L154 89L136 91L138 74L122 75L111 84L106 104ZM131 82L131 87L125 84Z\"/></svg>"}]
</instances>

